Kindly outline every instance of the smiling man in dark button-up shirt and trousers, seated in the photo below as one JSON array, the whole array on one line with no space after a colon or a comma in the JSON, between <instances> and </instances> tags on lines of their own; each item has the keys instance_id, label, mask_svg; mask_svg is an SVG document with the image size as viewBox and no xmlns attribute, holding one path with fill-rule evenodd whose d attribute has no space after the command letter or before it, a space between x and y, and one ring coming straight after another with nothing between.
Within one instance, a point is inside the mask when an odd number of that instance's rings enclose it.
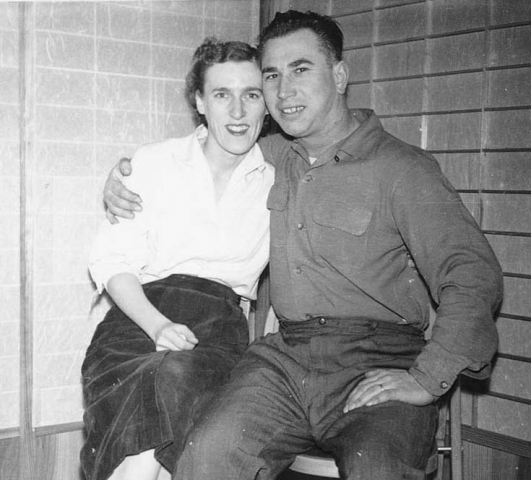
<instances>
[{"instance_id":1,"label":"smiling man in dark button-up shirt and trousers, seated","mask_svg":"<svg viewBox=\"0 0 531 480\"><path fill-rule=\"evenodd\" d=\"M342 47L311 12L261 34L266 105L291 137L261 142L280 331L249 347L175 479L273 480L313 443L344 479L424 478L434 401L496 350L491 248L431 156L349 112Z\"/></svg>"}]
</instances>

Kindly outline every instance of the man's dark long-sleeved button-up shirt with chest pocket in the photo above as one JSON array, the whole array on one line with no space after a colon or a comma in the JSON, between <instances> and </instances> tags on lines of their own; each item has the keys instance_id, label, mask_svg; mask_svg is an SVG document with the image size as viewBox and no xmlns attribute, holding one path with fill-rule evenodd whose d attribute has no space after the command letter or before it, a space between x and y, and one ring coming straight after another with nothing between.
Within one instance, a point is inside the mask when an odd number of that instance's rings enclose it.
<instances>
[{"instance_id":1,"label":"man's dark long-sleeved button-up shirt with chest pocket","mask_svg":"<svg viewBox=\"0 0 531 480\"><path fill-rule=\"evenodd\" d=\"M361 125L313 164L296 140L260 142L276 167L273 308L287 320L360 317L425 330L434 302L431 340L410 373L442 395L496 350L501 269L437 161L385 132L371 111L354 115Z\"/></svg>"}]
</instances>

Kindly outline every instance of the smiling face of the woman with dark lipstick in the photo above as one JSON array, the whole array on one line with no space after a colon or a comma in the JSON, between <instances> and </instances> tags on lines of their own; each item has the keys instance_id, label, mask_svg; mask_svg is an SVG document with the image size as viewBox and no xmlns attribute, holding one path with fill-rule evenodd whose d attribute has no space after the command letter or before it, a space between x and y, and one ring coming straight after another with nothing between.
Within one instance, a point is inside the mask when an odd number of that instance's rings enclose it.
<instances>
[{"instance_id":1,"label":"smiling face of the woman with dark lipstick","mask_svg":"<svg viewBox=\"0 0 531 480\"><path fill-rule=\"evenodd\" d=\"M226 62L205 72L203 94L196 93L197 110L208 122L205 156L241 157L262 130L266 107L262 75L253 62Z\"/></svg>"}]
</instances>

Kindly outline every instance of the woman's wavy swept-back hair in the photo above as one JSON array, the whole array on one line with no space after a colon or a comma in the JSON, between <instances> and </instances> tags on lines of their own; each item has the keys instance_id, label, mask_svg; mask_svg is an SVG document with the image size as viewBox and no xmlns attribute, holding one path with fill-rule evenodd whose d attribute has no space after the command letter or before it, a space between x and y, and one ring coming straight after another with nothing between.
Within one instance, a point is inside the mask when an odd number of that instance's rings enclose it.
<instances>
[{"instance_id":1,"label":"woman's wavy swept-back hair","mask_svg":"<svg viewBox=\"0 0 531 480\"><path fill-rule=\"evenodd\" d=\"M204 93L206 71L218 63L253 62L260 68L258 50L244 42L222 42L215 37L206 38L192 58L192 67L186 75L186 98L195 113L196 122L207 125L206 118L197 111L196 92Z\"/></svg>"}]
</instances>

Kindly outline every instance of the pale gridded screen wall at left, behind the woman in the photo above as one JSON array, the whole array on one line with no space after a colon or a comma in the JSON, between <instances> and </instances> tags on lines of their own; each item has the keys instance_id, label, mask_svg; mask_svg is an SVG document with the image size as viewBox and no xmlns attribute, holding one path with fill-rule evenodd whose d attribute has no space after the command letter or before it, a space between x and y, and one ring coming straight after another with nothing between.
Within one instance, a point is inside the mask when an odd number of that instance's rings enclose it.
<instances>
[{"instance_id":1,"label":"pale gridded screen wall at left, behind the woman","mask_svg":"<svg viewBox=\"0 0 531 480\"><path fill-rule=\"evenodd\" d=\"M140 144L193 130L195 48L254 41L258 7L0 1L0 479L80 478L80 366L108 307L92 308L87 272L104 178Z\"/></svg>"}]
</instances>

